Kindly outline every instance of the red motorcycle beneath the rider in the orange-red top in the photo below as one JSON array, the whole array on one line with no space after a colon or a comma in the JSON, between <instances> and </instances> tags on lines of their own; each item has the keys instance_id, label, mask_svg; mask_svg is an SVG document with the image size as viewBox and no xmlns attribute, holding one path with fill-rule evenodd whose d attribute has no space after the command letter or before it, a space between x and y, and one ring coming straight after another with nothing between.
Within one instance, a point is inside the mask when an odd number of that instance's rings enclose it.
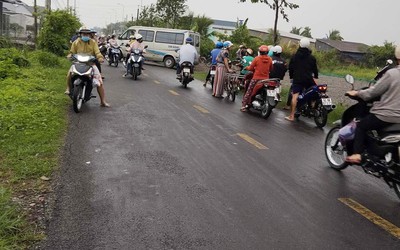
<instances>
[{"instance_id":1,"label":"red motorcycle beneath the rider in the orange-red top","mask_svg":"<svg viewBox=\"0 0 400 250\"><path fill-rule=\"evenodd\" d=\"M260 80L251 93L251 104L248 108L261 111L261 117L267 119L280 101L280 79Z\"/></svg>"}]
</instances>

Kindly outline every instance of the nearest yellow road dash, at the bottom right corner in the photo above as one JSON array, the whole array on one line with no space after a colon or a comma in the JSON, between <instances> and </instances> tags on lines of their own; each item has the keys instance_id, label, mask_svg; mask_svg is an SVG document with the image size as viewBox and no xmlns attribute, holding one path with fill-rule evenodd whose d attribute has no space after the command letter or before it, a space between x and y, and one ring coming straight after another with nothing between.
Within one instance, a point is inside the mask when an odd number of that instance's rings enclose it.
<instances>
[{"instance_id":1,"label":"nearest yellow road dash, at the bottom right corner","mask_svg":"<svg viewBox=\"0 0 400 250\"><path fill-rule=\"evenodd\" d=\"M357 213L361 214L365 218L367 218L375 225L386 230L394 237L400 239L400 228L398 228L396 225L393 225L389 221L385 220L384 218L380 217L379 215L375 214L368 208L364 207L360 203L350 198L339 198L338 200L347 205L348 207L350 207L351 209L353 209L354 211L356 211Z\"/></svg>"}]
</instances>

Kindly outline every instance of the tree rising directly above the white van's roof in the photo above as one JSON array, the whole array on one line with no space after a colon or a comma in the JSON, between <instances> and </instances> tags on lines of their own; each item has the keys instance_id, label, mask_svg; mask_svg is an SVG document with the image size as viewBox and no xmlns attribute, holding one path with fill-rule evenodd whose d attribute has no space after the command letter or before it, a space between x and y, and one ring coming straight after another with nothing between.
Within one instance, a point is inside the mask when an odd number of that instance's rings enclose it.
<instances>
[{"instance_id":1,"label":"tree rising directly above the white van's roof","mask_svg":"<svg viewBox=\"0 0 400 250\"><path fill-rule=\"evenodd\" d=\"M179 19L186 12L186 0L158 0L156 3L157 13L162 22L168 28L177 28Z\"/></svg>"}]
</instances>

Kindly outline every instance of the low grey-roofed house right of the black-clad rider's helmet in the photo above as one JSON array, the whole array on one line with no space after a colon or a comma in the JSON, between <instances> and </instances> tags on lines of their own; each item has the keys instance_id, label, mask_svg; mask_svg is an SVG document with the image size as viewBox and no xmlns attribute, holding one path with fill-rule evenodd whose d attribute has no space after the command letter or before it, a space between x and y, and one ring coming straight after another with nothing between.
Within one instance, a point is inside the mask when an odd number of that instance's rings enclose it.
<instances>
[{"instance_id":1,"label":"low grey-roofed house right of the black-clad rider's helmet","mask_svg":"<svg viewBox=\"0 0 400 250\"><path fill-rule=\"evenodd\" d=\"M369 46L363 43L317 39L315 48L317 51L336 50L339 52L340 57L343 60L349 62L358 62L364 58Z\"/></svg>"}]
</instances>

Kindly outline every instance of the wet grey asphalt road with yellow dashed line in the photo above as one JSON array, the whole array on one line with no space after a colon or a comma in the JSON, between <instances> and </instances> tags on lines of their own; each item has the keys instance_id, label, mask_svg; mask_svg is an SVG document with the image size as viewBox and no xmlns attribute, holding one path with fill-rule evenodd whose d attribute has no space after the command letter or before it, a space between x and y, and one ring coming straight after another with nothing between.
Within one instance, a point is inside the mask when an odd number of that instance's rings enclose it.
<instances>
[{"instance_id":1,"label":"wet grey asphalt road with yellow dashed line","mask_svg":"<svg viewBox=\"0 0 400 250\"><path fill-rule=\"evenodd\" d=\"M70 113L45 249L400 249L400 200L359 169L330 169L327 129L242 113L241 98L184 89L163 67L138 81L103 68L112 107Z\"/></svg>"}]
</instances>

